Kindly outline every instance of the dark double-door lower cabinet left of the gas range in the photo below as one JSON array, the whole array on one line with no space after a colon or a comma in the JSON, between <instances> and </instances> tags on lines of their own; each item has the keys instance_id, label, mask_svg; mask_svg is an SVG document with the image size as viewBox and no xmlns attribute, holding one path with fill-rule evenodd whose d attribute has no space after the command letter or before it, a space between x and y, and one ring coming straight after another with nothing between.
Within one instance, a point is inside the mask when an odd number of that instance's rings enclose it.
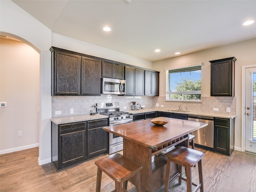
<instances>
[{"instance_id":1,"label":"dark double-door lower cabinet left of the gas range","mask_svg":"<svg viewBox=\"0 0 256 192\"><path fill-rule=\"evenodd\" d=\"M52 164L56 170L108 152L108 119L70 124L52 123Z\"/></svg>"}]
</instances>

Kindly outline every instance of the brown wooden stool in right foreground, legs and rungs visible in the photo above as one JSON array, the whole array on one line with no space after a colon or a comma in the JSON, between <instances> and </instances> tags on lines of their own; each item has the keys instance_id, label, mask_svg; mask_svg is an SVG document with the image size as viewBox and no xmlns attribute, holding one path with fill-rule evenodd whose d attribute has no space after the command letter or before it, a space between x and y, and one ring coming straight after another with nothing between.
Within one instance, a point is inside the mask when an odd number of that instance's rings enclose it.
<instances>
[{"instance_id":1,"label":"brown wooden stool in right foreground, legs and rungs visible","mask_svg":"<svg viewBox=\"0 0 256 192\"><path fill-rule=\"evenodd\" d=\"M178 146L174 150L165 154L167 157L167 165L166 165L166 176L164 183L164 192L168 191L169 183L174 179L179 177L179 185L181 184L181 180L187 182L187 192L192 191L192 185L196 186L193 192L196 192L200 188L200 192L204 191L203 184L203 167L202 167L202 158L204 157L204 153L187 148L184 146ZM170 164L174 162L179 165L179 172L176 176L169 180L169 172L170 172ZM199 184L196 185L192 182L192 172L191 168L196 165L198 162L198 173L199 173ZM182 166L186 168L186 178L182 177Z\"/></svg>"}]
</instances>

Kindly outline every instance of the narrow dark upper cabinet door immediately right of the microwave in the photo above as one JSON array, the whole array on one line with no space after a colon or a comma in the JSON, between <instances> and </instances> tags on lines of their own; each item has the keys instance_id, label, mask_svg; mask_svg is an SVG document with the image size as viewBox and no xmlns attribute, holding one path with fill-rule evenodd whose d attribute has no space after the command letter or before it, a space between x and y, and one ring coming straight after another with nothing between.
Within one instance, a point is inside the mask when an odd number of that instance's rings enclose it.
<instances>
[{"instance_id":1,"label":"narrow dark upper cabinet door immediately right of the microwave","mask_svg":"<svg viewBox=\"0 0 256 192\"><path fill-rule=\"evenodd\" d=\"M125 67L126 95L135 95L135 68Z\"/></svg>"}]
</instances>

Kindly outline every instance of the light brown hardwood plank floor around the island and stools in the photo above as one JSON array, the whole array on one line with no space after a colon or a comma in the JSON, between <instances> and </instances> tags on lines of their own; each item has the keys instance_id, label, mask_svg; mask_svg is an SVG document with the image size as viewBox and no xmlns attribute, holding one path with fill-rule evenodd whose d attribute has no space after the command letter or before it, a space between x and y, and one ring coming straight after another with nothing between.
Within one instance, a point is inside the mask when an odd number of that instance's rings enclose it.
<instances>
[{"instance_id":1,"label":"light brown hardwood plank floor around the island and stools","mask_svg":"<svg viewBox=\"0 0 256 192\"><path fill-rule=\"evenodd\" d=\"M199 148L196 148L201 150ZM256 155L234 151L224 156L206 150L203 158L205 192L256 192ZM100 156L82 164L56 171L51 163L39 166L38 148L0 156L0 192L94 192ZM198 182L198 167L192 168L192 180ZM114 182L102 174L102 192L114 189ZM128 182L128 190L135 187ZM162 192L164 187L157 192ZM186 182L170 185L170 191L186 192Z\"/></svg>"}]
</instances>

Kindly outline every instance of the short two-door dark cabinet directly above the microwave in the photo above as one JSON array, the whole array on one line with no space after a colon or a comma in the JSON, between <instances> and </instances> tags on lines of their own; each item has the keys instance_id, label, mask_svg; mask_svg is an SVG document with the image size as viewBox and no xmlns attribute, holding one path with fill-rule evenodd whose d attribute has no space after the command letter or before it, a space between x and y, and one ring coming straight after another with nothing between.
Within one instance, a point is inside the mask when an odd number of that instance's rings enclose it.
<instances>
[{"instance_id":1,"label":"short two-door dark cabinet directly above the microwave","mask_svg":"<svg viewBox=\"0 0 256 192\"><path fill-rule=\"evenodd\" d=\"M124 79L124 65L103 61L102 77Z\"/></svg>"}]
</instances>

